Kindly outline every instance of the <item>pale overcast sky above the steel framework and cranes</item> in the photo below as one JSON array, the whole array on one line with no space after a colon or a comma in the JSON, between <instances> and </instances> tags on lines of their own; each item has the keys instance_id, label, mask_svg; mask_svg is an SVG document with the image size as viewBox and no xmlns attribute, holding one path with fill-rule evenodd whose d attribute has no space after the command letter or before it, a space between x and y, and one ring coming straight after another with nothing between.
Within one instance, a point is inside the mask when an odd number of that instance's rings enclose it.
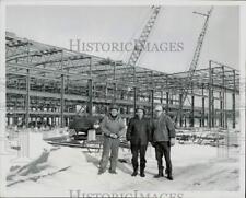
<instances>
[{"instance_id":1,"label":"pale overcast sky above the steel framework and cranes","mask_svg":"<svg viewBox=\"0 0 246 198\"><path fill-rule=\"evenodd\" d=\"M149 37L151 44L179 42L181 51L142 53L139 66L167 73L186 71L192 59L209 7L163 7ZM8 7L7 31L20 37L70 48L70 39L81 42L132 42L150 14L149 7ZM214 7L198 68L210 59L238 69L238 8ZM92 51L112 59L129 58L129 53Z\"/></svg>"}]
</instances>

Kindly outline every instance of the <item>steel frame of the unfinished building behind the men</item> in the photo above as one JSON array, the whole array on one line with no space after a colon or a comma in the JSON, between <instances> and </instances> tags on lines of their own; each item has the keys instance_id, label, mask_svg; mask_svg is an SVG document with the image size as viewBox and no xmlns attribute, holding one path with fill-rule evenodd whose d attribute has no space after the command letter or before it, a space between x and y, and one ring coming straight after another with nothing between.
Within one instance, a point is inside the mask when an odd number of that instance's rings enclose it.
<instances>
[{"instance_id":1,"label":"steel frame of the unfinished building behind the men","mask_svg":"<svg viewBox=\"0 0 246 198\"><path fill-rule=\"evenodd\" d=\"M117 103L127 118L132 116L132 107L140 104L150 116L155 104L165 106L172 116L180 108L185 89L187 101L181 105L180 127L187 127L187 123L194 127L199 120L201 127L226 128L227 119L232 119L235 128L239 73L224 63L210 60L208 68L194 72L190 82L188 71L168 74L132 67L9 32L5 42L8 125L40 119L63 127L77 114L77 105L89 106L89 113L95 106L98 114L104 114L110 103ZM127 81L121 78L126 71Z\"/></svg>"}]
</instances>

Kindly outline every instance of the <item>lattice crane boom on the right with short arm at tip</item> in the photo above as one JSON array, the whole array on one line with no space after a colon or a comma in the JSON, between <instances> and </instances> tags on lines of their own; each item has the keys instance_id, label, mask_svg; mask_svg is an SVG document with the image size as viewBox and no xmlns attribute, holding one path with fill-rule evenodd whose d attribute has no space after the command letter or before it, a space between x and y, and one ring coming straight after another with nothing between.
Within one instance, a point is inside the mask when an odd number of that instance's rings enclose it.
<instances>
[{"instance_id":1,"label":"lattice crane boom on the right with short arm at tip","mask_svg":"<svg viewBox=\"0 0 246 198\"><path fill-rule=\"evenodd\" d=\"M180 100L179 109L177 110L175 123L177 123L178 118L180 118L180 116L181 116L181 109L183 109L184 103L185 103L185 101L187 98L187 95L189 93L189 89L192 85L192 77L194 77L196 68L198 66L202 44L203 44L203 40L204 40L204 36L206 36L206 33L207 33L207 30L208 30L209 19L211 16L212 11L213 11L213 7L211 7L211 9L207 13L194 12L195 14L199 14L201 16L204 16L206 20L204 20L204 24L202 26L201 33L198 37L197 47L195 49L194 57L192 57L191 63L189 66L188 74L186 77L188 84L187 84L186 88L184 88L181 90L181 93L180 93L183 95L183 97Z\"/></svg>"}]
</instances>

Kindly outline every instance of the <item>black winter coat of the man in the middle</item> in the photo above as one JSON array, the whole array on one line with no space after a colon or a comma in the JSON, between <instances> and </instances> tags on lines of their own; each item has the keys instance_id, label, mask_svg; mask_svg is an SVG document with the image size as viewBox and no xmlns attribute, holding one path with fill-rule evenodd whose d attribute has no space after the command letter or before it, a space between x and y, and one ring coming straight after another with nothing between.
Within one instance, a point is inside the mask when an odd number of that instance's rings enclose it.
<instances>
[{"instance_id":1,"label":"black winter coat of the man in the middle","mask_svg":"<svg viewBox=\"0 0 246 198\"><path fill-rule=\"evenodd\" d=\"M139 119L137 116L131 118L127 128L127 140L131 144L147 145L150 139L150 120L145 117Z\"/></svg>"}]
</instances>

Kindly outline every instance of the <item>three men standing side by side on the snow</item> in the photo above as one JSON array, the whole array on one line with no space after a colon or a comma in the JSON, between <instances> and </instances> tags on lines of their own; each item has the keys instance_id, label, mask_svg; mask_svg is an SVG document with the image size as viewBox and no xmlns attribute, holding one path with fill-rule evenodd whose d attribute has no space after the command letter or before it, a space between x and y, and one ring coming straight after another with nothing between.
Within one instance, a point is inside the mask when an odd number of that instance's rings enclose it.
<instances>
[{"instance_id":1,"label":"three men standing side by side on the snow","mask_svg":"<svg viewBox=\"0 0 246 198\"><path fill-rule=\"evenodd\" d=\"M155 148L155 158L159 168L159 173L154 175L154 177L159 178L164 176L164 156L166 162L166 177L167 179L173 180L171 147L175 144L174 124L171 117L163 112L163 107L161 105L155 106L154 117L152 119L147 118L144 113L144 107L138 106L136 109L136 116L128 123L126 139L127 141L130 141L130 149L132 154L131 163L133 166L133 173L131 174L131 176L138 175L139 155L140 176L145 176L145 152L150 142ZM106 115L101 123L101 129L104 133L104 143L98 174L101 175L106 171L109 160L109 173L116 174L118 148L120 143L119 139L125 133L125 124L118 114L118 107L116 105L112 105L109 107L109 114Z\"/></svg>"}]
</instances>

